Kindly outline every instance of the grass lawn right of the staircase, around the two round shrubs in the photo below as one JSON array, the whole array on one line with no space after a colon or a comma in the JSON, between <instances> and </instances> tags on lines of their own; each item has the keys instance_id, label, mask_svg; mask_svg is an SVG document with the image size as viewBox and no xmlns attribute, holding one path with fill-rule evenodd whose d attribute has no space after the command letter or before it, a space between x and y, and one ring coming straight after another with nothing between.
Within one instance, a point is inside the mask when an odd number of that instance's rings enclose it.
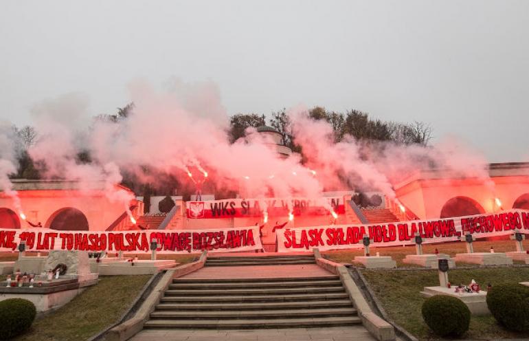
<instances>
[{"instance_id":1,"label":"grass lawn right of the staircase, around the two round shrubs","mask_svg":"<svg viewBox=\"0 0 529 341\"><path fill-rule=\"evenodd\" d=\"M376 297L391 318L420 340L438 340L423 321L420 309L424 298L423 287L438 285L435 270L362 270ZM449 281L454 284L470 283L475 279L484 288L490 283L519 283L529 281L529 267L499 267L472 270L450 270ZM497 325L492 316L473 316L465 339L491 340L501 338L529 338L529 333L515 333Z\"/></svg>"}]
</instances>

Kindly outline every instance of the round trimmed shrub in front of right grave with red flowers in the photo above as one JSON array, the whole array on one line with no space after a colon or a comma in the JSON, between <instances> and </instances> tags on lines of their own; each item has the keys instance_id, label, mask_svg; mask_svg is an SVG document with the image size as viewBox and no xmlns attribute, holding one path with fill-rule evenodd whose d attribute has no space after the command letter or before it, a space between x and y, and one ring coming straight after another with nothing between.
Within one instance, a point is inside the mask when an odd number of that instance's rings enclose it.
<instances>
[{"instance_id":1,"label":"round trimmed shrub in front of right grave with red flowers","mask_svg":"<svg viewBox=\"0 0 529 341\"><path fill-rule=\"evenodd\" d=\"M431 296L423 303L423 319L438 336L460 336L469 330L470 310L451 296Z\"/></svg>"}]
</instances>

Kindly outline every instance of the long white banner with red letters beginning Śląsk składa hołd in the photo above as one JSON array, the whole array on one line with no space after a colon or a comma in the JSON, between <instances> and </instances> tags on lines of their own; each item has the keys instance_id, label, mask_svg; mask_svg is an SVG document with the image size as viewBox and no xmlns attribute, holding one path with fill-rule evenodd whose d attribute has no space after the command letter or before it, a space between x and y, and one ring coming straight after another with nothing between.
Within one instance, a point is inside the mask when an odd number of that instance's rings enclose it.
<instances>
[{"instance_id":1,"label":"long white banner with red letters beginning \u015al\u0105sk sk\u0142ada ho\u0142d","mask_svg":"<svg viewBox=\"0 0 529 341\"><path fill-rule=\"evenodd\" d=\"M512 234L518 228L529 233L529 212L509 210L495 214L479 214L436 220L398 221L373 225L323 225L280 230L277 234L279 252L363 248L364 234L372 246L414 245L419 233L423 243L457 241L467 231L476 238ZM513 246L514 247L514 246Z\"/></svg>"}]
</instances>

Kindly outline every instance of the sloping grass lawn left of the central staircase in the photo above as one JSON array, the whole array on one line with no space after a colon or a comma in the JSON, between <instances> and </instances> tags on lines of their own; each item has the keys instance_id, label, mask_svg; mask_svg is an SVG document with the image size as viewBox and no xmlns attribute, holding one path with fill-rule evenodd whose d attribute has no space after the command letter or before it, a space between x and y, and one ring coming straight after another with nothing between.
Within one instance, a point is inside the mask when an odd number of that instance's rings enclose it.
<instances>
[{"instance_id":1,"label":"sloping grass lawn left of the central staircase","mask_svg":"<svg viewBox=\"0 0 529 341\"><path fill-rule=\"evenodd\" d=\"M86 340L117 322L149 278L150 275L101 276L98 285L36 320L30 331L14 340Z\"/></svg>"}]
</instances>

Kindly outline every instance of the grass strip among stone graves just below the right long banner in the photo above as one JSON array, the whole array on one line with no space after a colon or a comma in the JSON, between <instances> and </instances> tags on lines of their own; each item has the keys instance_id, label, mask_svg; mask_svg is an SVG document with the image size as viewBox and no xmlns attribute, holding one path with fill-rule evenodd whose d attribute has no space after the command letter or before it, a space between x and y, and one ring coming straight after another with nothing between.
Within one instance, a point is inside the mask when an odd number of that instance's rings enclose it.
<instances>
[{"instance_id":1,"label":"grass strip among stone graves just below the right long banner","mask_svg":"<svg viewBox=\"0 0 529 341\"><path fill-rule=\"evenodd\" d=\"M455 256L457 253L466 252L466 243L462 241L454 241L453 243L442 244L423 244L423 252L425 254L433 254L436 249L440 253ZM495 252L510 252L516 251L514 241L475 241L473 243L474 252L489 252L491 246L494 247ZM529 240L524 241L525 250L529 250ZM407 254L415 254L415 245L394 246L391 248L370 248L372 255L380 252L381 256L392 256L397 262L398 267L418 267L418 265L403 263L403 259ZM363 248L357 250L334 250L322 252L324 255L335 262L352 263L354 256L363 256ZM515 263L520 263L515 261ZM461 264L464 265L464 264ZM477 265L476 265L477 266Z\"/></svg>"}]
</instances>

